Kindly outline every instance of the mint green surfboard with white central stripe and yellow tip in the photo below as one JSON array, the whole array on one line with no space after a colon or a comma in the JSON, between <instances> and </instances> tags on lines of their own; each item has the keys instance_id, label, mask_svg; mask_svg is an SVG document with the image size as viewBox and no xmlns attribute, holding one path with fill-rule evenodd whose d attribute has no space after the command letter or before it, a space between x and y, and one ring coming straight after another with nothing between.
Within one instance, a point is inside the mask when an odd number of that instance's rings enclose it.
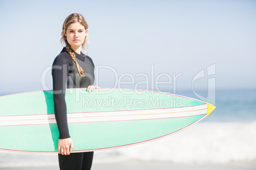
<instances>
[{"instance_id":1,"label":"mint green surfboard with white central stripe and yellow tip","mask_svg":"<svg viewBox=\"0 0 256 170\"><path fill-rule=\"evenodd\" d=\"M67 89L73 152L127 147L192 126L215 106L185 96L133 89ZM53 91L0 97L0 150L56 153Z\"/></svg>"}]
</instances>

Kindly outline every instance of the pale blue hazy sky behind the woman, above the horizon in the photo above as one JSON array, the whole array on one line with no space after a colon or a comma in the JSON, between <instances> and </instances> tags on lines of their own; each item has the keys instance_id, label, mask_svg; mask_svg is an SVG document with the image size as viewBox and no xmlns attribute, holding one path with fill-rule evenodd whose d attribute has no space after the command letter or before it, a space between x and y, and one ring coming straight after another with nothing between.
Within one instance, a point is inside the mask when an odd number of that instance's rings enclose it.
<instances>
[{"instance_id":1,"label":"pale blue hazy sky behind the woman, above the horizon","mask_svg":"<svg viewBox=\"0 0 256 170\"><path fill-rule=\"evenodd\" d=\"M101 88L256 88L256 1L0 0L0 95L52 89L71 13L89 24Z\"/></svg>"}]
</instances>

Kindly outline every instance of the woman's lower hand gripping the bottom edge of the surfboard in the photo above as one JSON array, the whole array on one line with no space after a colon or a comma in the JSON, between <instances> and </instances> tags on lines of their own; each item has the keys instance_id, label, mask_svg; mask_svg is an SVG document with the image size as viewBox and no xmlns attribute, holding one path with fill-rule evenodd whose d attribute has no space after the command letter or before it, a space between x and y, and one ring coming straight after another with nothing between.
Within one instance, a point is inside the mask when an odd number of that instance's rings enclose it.
<instances>
[{"instance_id":1,"label":"woman's lower hand gripping the bottom edge of the surfboard","mask_svg":"<svg viewBox=\"0 0 256 170\"><path fill-rule=\"evenodd\" d=\"M69 155L70 152L73 150L73 148L74 148L74 145L71 138L59 139L59 143L58 143L59 154Z\"/></svg>"}]
</instances>

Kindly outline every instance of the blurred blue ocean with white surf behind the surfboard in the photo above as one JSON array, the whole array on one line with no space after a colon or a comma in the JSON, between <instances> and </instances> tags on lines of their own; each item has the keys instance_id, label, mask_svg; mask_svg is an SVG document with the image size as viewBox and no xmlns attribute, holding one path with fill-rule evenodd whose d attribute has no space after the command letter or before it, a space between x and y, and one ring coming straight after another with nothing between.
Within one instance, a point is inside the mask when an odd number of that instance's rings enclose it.
<instances>
[{"instance_id":1,"label":"blurred blue ocean with white surf behind the surfboard","mask_svg":"<svg viewBox=\"0 0 256 170\"><path fill-rule=\"evenodd\" d=\"M200 93L207 95L206 91ZM197 98L192 91L176 94ZM215 105L217 108L208 117L180 133L132 147L95 152L94 164L249 164L249 169L256 169L256 89L217 90ZM0 168L51 165L57 166L57 154L0 151Z\"/></svg>"}]
</instances>

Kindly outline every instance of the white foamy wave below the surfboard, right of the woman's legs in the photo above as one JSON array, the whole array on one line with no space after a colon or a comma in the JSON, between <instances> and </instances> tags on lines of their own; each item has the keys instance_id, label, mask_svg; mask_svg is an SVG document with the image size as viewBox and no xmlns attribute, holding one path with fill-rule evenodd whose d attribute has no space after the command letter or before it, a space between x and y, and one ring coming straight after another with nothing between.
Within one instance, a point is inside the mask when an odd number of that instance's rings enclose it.
<instances>
[{"instance_id":1,"label":"white foamy wave below the surfboard, right of the woman's legs","mask_svg":"<svg viewBox=\"0 0 256 170\"><path fill-rule=\"evenodd\" d=\"M115 159L111 160L110 155L120 160L154 160L185 164L255 161L255 129L256 122L202 122L160 140L102 151L98 161L102 162L108 158L108 161L115 162Z\"/></svg>"}]
</instances>

